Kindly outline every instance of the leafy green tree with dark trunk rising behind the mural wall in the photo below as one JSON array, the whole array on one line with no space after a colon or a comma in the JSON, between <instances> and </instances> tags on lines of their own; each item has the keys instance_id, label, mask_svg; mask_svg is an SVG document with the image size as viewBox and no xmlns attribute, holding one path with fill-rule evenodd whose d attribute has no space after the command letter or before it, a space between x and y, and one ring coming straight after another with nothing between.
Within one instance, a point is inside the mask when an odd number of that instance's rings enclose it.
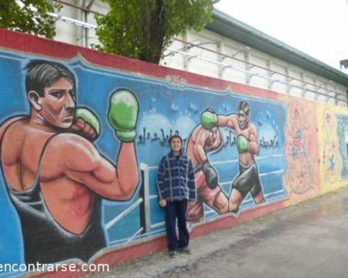
<instances>
[{"instance_id":1,"label":"leafy green tree with dark trunk rising behind the mural wall","mask_svg":"<svg viewBox=\"0 0 348 278\"><path fill-rule=\"evenodd\" d=\"M174 35L200 31L212 21L219 0L102 0L106 17L96 15L96 49L159 63Z\"/></svg>"}]
</instances>

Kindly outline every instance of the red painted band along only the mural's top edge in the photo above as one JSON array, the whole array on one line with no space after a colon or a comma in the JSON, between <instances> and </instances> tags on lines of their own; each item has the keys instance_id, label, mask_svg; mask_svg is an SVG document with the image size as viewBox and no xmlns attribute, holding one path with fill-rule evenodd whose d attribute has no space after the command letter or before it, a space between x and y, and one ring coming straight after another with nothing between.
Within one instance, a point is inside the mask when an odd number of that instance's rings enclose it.
<instances>
[{"instance_id":1,"label":"red painted band along only the mural's top edge","mask_svg":"<svg viewBox=\"0 0 348 278\"><path fill-rule=\"evenodd\" d=\"M251 95L253 97L277 100L278 93L262 88L255 88L250 85L224 81L209 76L175 70L169 67L155 65L152 63L134 60L115 54L77 47L64 42L57 42L45 38L35 37L24 33L8 31L0 28L0 48L24 52L27 54L38 54L47 58L73 59L77 55L84 57L88 63L95 66L109 67L126 72L137 72L160 79L165 79L168 75L176 75L186 79L187 83L199 85L216 90L230 89L232 92Z\"/></svg>"}]
</instances>

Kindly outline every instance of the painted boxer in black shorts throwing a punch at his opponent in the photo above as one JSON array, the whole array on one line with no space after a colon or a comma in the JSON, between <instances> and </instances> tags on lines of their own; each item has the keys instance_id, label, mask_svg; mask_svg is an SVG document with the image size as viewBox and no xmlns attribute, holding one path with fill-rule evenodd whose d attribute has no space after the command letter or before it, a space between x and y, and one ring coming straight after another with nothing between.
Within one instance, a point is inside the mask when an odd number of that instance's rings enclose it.
<instances>
[{"instance_id":1,"label":"painted boxer in black shorts throwing a punch at his opponent","mask_svg":"<svg viewBox=\"0 0 348 278\"><path fill-rule=\"evenodd\" d=\"M239 152L239 174L232 183L230 193L230 212L237 213L239 205L250 192L255 204L265 201L258 174L258 166L254 156L260 153L258 132L255 124L249 122L250 106L246 101L239 101L238 113L219 115L219 126L228 126L233 129L237 137Z\"/></svg>"}]
</instances>

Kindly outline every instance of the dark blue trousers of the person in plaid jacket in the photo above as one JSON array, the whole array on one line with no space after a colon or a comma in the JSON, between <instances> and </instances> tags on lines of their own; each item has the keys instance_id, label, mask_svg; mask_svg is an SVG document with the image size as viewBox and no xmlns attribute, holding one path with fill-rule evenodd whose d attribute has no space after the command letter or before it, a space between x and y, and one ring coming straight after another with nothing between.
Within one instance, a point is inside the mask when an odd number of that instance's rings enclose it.
<instances>
[{"instance_id":1,"label":"dark blue trousers of the person in plaid jacket","mask_svg":"<svg viewBox=\"0 0 348 278\"><path fill-rule=\"evenodd\" d=\"M166 230L168 237L169 251L175 251L177 248L189 246L189 231L186 227L187 199L180 201L167 201L166 205ZM175 220L177 218L177 227L179 230L179 240L177 240L175 231Z\"/></svg>"}]
</instances>

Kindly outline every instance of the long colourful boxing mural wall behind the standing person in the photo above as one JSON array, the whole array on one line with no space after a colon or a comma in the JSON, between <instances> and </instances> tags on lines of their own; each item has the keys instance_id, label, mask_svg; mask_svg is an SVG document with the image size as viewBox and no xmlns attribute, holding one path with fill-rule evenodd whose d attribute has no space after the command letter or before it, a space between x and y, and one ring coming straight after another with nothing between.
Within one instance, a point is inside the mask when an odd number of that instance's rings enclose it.
<instances>
[{"instance_id":1,"label":"long colourful boxing mural wall behind the standing person","mask_svg":"<svg viewBox=\"0 0 348 278\"><path fill-rule=\"evenodd\" d=\"M112 264L137 243L164 248L156 174L174 134L195 168L197 235L348 185L345 108L0 38L0 263Z\"/></svg>"}]
</instances>

